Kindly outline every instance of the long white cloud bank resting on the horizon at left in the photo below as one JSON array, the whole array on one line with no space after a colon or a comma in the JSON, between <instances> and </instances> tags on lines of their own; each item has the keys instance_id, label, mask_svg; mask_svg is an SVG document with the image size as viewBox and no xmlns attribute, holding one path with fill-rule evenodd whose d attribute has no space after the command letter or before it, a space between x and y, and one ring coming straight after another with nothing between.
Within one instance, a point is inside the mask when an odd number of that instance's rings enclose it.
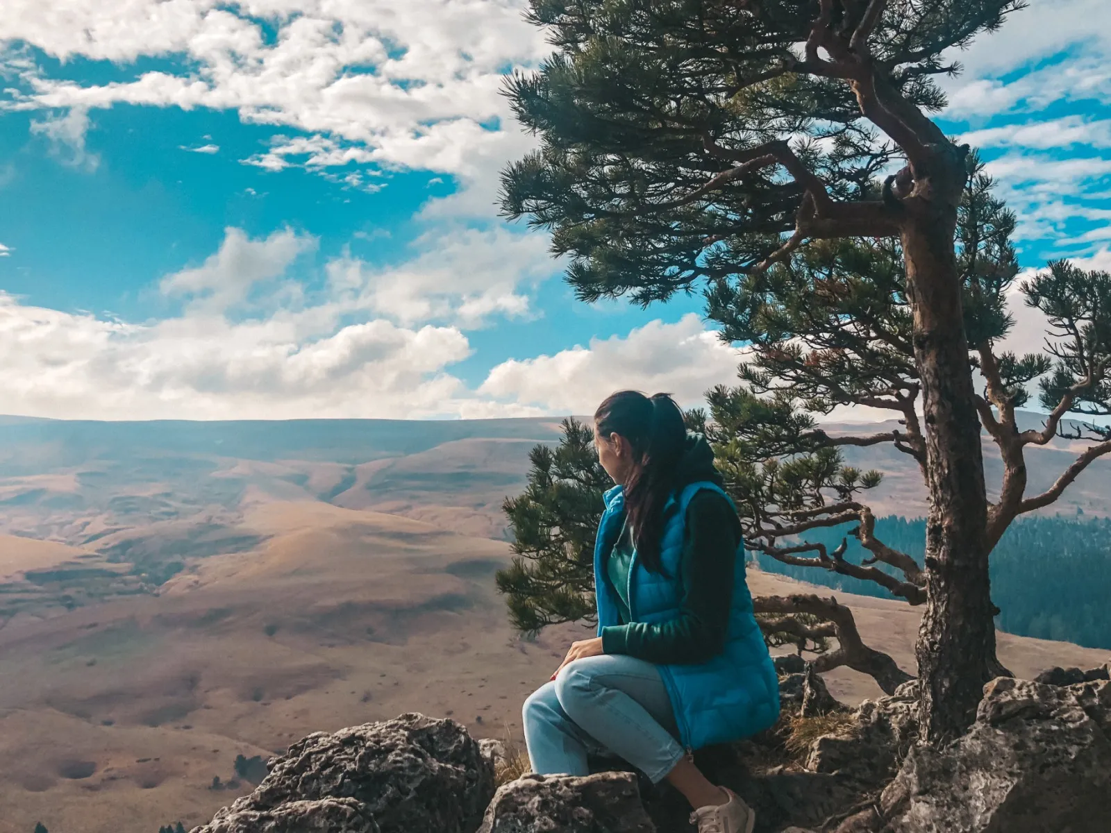
<instances>
[{"instance_id":1,"label":"long white cloud bank resting on the horizon at left","mask_svg":"<svg viewBox=\"0 0 1111 833\"><path fill-rule=\"evenodd\" d=\"M230 228L218 251L161 279L181 312L142 323L30 307L0 292L3 411L63 419L526 415L450 373L464 327L524 314L518 282L551 268L539 235L444 230L408 262L304 257L291 229ZM302 280L308 278L308 280ZM433 321L432 319L441 319Z\"/></svg>"}]
</instances>

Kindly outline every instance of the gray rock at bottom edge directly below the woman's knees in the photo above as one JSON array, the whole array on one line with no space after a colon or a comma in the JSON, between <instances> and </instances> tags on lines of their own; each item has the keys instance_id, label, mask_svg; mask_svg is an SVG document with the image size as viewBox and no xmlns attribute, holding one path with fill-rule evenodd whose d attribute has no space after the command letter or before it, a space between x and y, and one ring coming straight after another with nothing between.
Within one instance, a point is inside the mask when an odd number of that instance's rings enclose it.
<instances>
[{"instance_id":1,"label":"gray rock at bottom edge directly below the woman's knees","mask_svg":"<svg viewBox=\"0 0 1111 833\"><path fill-rule=\"evenodd\" d=\"M655 825L631 773L531 774L498 790L479 833L655 833Z\"/></svg>"}]
</instances>

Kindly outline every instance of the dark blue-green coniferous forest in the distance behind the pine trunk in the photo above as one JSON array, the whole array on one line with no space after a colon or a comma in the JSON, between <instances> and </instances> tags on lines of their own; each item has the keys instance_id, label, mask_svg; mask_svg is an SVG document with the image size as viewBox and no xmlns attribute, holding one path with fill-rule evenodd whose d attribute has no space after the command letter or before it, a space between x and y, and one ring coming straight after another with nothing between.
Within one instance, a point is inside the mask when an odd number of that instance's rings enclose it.
<instances>
[{"instance_id":1,"label":"dark blue-green coniferous forest in the distance behind the pine trunk","mask_svg":"<svg viewBox=\"0 0 1111 833\"><path fill-rule=\"evenodd\" d=\"M851 525L815 529L807 539L830 550L848 540L847 560L869 555L848 534ZM918 559L924 555L925 520L898 516L875 522L875 534ZM1111 648L1111 519L1023 518L1014 521L991 553L991 594L1002 611L997 624L1008 633ZM752 555L750 554L750 558ZM759 555L770 573L847 593L892 598L871 581L825 570L783 564ZM894 573L892 568L877 566Z\"/></svg>"}]
</instances>

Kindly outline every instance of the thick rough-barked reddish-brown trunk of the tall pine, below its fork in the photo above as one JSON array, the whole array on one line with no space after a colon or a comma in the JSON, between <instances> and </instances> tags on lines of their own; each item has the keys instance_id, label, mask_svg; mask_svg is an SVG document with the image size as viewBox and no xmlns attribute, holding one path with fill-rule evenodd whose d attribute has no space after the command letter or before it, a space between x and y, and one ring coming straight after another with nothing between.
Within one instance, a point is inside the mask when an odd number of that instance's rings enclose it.
<instances>
[{"instance_id":1,"label":"thick rough-barked reddish-brown trunk of the tall pine, below its fork","mask_svg":"<svg viewBox=\"0 0 1111 833\"><path fill-rule=\"evenodd\" d=\"M953 165L949 175L955 180L962 173ZM938 191L952 191L934 185L935 199L918 202L905 218L902 244L922 382L930 496L929 600L915 646L920 717L923 737L943 743L971 725L983 684L1000 665L988 579L980 421L953 251L955 200L939 198Z\"/></svg>"}]
</instances>

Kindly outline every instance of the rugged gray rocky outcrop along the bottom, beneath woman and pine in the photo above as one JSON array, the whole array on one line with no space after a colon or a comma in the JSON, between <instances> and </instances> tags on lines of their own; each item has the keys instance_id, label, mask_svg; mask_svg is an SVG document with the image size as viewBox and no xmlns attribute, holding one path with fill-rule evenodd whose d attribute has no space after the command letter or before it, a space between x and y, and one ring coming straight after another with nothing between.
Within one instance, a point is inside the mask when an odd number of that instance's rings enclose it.
<instances>
[{"instance_id":1,"label":"rugged gray rocky outcrop along the bottom, beneath woman and pine","mask_svg":"<svg viewBox=\"0 0 1111 833\"><path fill-rule=\"evenodd\" d=\"M797 696L777 729L695 760L755 809L755 833L1095 833L1111 829L1102 812L1111 680L1099 672L1060 685L998 679L968 734L935 749L915 743L917 683L850 714L804 669L781 680ZM1078 676L1057 670L1045 679ZM788 734L814 727L827 734L803 760L785 757ZM506 760L502 744L420 714L310 735L194 833L692 830L678 792L621 762L587 777L526 775L496 794Z\"/></svg>"}]
</instances>

